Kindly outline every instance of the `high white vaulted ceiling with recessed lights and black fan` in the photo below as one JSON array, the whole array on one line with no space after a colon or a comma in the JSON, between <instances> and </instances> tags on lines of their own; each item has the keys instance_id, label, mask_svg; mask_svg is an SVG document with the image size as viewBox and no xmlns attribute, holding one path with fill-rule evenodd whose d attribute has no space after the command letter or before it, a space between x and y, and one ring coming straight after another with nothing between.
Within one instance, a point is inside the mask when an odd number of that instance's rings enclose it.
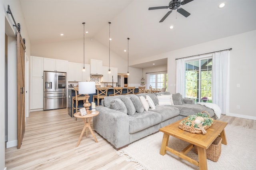
<instances>
[{"instance_id":1,"label":"high white vaulted ceiling with recessed lights and black fan","mask_svg":"<svg viewBox=\"0 0 256 170\"><path fill-rule=\"evenodd\" d=\"M182 0L181 0L182 1ZM256 30L256 0L193 0L182 5L187 18L170 9L170 0L20 0L31 44L86 38L108 47L111 24L111 50L130 59L146 58L175 49ZM225 2L224 8L218 5ZM173 29L170 29L173 26ZM64 36L60 36L60 34ZM160 60L164 63L164 60ZM140 67L140 65L137 65ZM146 65L142 66L145 67Z\"/></svg>"}]
</instances>

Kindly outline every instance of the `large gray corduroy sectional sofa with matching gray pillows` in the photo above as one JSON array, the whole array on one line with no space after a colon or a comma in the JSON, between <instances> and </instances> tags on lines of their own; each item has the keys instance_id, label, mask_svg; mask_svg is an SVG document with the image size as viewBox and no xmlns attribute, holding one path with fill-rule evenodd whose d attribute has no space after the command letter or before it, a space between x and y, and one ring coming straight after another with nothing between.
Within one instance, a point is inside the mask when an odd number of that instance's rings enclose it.
<instances>
[{"instance_id":1,"label":"large gray corduroy sectional sofa with matching gray pillows","mask_svg":"<svg viewBox=\"0 0 256 170\"><path fill-rule=\"evenodd\" d=\"M94 129L118 150L189 115L207 111L214 118L212 109L195 105L193 99L184 99L179 93L172 94L174 105L158 105L157 95L161 94L170 95L160 92L105 97L102 105L96 107L99 115L93 118ZM154 102L155 109L144 110L138 99L140 96L146 98L146 95ZM118 107L115 107L116 102L120 104Z\"/></svg>"}]
</instances>

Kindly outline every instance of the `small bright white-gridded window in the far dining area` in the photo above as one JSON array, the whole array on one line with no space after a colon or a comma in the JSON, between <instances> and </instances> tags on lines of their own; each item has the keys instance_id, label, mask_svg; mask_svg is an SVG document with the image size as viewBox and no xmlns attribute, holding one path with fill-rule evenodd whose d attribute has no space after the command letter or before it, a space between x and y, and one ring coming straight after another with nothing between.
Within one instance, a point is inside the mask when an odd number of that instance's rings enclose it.
<instances>
[{"instance_id":1,"label":"small bright white-gridded window in the far dining area","mask_svg":"<svg viewBox=\"0 0 256 170\"><path fill-rule=\"evenodd\" d=\"M167 73L147 73L149 74L149 85L152 89L166 88L167 91Z\"/></svg>"}]
</instances>

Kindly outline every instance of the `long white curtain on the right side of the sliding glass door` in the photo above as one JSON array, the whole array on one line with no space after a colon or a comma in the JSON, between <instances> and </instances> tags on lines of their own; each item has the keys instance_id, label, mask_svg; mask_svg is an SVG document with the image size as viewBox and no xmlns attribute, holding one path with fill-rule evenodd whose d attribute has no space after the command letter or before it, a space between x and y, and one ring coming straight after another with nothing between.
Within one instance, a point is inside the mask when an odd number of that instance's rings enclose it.
<instances>
[{"instance_id":1,"label":"long white curtain on the right side of the sliding glass door","mask_svg":"<svg viewBox=\"0 0 256 170\"><path fill-rule=\"evenodd\" d=\"M220 107L223 115L229 113L229 58L230 51L212 55L212 103Z\"/></svg>"}]
</instances>

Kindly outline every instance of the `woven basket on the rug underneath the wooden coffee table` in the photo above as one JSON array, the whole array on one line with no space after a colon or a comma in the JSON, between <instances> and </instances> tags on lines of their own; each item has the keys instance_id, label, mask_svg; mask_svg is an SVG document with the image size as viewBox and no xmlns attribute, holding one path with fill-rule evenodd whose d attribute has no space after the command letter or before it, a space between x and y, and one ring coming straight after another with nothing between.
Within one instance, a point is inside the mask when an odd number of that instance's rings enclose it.
<instances>
[{"instance_id":1,"label":"woven basket on the rug underneath the wooden coffee table","mask_svg":"<svg viewBox=\"0 0 256 170\"><path fill-rule=\"evenodd\" d=\"M221 137L217 137L212 144L206 149L206 158L212 160L213 162L217 162L220 158L221 153ZM197 146L195 145L194 152L198 154Z\"/></svg>"}]
</instances>

